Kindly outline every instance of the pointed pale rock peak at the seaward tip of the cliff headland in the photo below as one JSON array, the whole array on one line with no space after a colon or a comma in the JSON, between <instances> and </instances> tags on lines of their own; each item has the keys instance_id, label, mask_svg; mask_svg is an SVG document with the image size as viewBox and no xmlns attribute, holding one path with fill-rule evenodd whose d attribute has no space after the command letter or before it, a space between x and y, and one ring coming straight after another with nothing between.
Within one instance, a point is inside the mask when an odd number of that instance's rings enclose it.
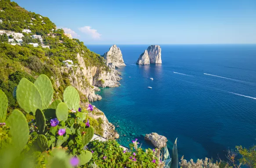
<instances>
[{"instance_id":1,"label":"pointed pale rock peak at the seaward tip of the cliff headland","mask_svg":"<svg viewBox=\"0 0 256 168\"><path fill-rule=\"evenodd\" d=\"M123 55L119 47L112 45L108 52L103 55L106 60L106 65L112 68L119 68L119 66L126 66L123 62Z\"/></svg>"}]
</instances>

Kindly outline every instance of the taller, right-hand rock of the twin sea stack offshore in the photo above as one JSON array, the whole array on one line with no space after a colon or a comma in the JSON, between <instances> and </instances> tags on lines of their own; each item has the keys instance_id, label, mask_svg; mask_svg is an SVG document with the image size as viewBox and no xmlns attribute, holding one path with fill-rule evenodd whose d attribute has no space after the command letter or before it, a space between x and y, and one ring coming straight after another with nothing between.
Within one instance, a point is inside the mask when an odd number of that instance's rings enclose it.
<instances>
[{"instance_id":1,"label":"taller, right-hand rock of the twin sea stack offshore","mask_svg":"<svg viewBox=\"0 0 256 168\"><path fill-rule=\"evenodd\" d=\"M150 63L162 63L160 45L150 45L147 50Z\"/></svg>"}]
</instances>

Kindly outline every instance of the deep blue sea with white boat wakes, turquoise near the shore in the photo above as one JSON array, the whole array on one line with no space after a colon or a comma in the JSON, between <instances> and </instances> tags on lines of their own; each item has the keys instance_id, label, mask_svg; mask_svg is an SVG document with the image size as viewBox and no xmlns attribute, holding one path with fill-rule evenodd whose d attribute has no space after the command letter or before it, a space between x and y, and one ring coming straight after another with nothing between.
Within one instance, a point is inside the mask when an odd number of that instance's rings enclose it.
<instances>
[{"instance_id":1,"label":"deep blue sea with white boat wakes, turquoise near the shore","mask_svg":"<svg viewBox=\"0 0 256 168\"><path fill-rule=\"evenodd\" d=\"M162 64L149 66L135 64L148 45L118 46L121 86L99 91L93 105L116 126L120 144L138 138L152 148L144 135L156 132L169 151L178 137L186 159L225 158L227 148L256 144L256 45L161 45ZM110 47L88 45L101 55Z\"/></svg>"}]
</instances>

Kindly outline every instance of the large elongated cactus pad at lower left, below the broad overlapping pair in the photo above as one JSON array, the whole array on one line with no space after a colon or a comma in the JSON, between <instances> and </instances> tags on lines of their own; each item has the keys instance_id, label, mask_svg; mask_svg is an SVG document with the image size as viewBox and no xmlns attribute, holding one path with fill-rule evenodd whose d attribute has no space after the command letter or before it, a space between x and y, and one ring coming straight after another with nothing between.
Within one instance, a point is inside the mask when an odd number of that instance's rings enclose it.
<instances>
[{"instance_id":1,"label":"large elongated cactus pad at lower left, below the broad overlapping pair","mask_svg":"<svg viewBox=\"0 0 256 168\"><path fill-rule=\"evenodd\" d=\"M12 146L15 148L17 154L19 154L29 140L27 120L22 112L15 109L11 112L5 123L10 127L9 133L11 135Z\"/></svg>"}]
</instances>

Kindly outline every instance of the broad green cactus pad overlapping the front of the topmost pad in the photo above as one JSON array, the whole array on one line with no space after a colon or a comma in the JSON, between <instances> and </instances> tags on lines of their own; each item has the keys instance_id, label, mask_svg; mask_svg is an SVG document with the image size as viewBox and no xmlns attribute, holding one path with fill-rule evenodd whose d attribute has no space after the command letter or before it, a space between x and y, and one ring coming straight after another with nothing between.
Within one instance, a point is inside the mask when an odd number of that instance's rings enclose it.
<instances>
[{"instance_id":1,"label":"broad green cactus pad overlapping the front of the topmost pad","mask_svg":"<svg viewBox=\"0 0 256 168\"><path fill-rule=\"evenodd\" d=\"M22 78L16 91L19 106L27 113L36 113L36 109L43 108L43 102L39 90L26 78Z\"/></svg>"}]
</instances>

